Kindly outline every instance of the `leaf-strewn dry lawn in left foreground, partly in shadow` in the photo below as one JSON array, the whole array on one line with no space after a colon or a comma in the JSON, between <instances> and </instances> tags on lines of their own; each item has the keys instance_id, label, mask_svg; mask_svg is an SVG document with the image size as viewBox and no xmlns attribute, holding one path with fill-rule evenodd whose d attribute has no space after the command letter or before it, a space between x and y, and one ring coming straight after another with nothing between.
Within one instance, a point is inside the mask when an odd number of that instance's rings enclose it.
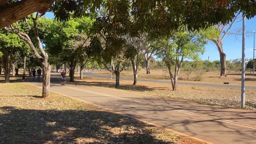
<instances>
[{"instance_id":1,"label":"leaf-strewn dry lawn in left foreground, partly in shadow","mask_svg":"<svg viewBox=\"0 0 256 144\"><path fill-rule=\"evenodd\" d=\"M0 143L201 143L28 83L0 83Z\"/></svg>"}]
</instances>

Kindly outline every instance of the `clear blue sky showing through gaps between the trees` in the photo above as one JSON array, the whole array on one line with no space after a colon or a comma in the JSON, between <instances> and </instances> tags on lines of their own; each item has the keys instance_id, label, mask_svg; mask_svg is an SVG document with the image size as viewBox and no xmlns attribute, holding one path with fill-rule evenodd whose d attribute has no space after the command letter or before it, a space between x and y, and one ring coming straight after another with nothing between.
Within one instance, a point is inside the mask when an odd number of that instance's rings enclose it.
<instances>
[{"instance_id":1,"label":"clear blue sky showing through gaps between the trees","mask_svg":"<svg viewBox=\"0 0 256 144\"><path fill-rule=\"evenodd\" d=\"M53 18L53 13L46 13L46 17ZM237 31L238 29L242 28L242 21L235 23L230 32ZM252 31L256 31L256 17L253 19L246 19L246 46L245 46L245 54L246 58L253 57L253 33ZM255 34L256 39L256 34ZM256 42L255 42L256 43ZM255 44L256 45L256 44ZM205 46L206 52L201 55L203 60L208 59L210 57L210 61L219 60L219 52L214 43L208 41L208 44ZM223 50L226 53L226 59L236 59L242 57L242 34L239 35L226 35L223 41ZM256 53L256 51L255 51Z\"/></svg>"}]
</instances>

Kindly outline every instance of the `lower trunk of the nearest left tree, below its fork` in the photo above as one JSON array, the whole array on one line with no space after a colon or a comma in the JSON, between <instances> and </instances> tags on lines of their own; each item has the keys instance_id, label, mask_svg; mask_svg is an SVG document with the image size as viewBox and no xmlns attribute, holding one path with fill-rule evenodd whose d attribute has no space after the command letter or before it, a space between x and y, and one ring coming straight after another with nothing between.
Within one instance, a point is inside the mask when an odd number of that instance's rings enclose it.
<instances>
[{"instance_id":1,"label":"lower trunk of the nearest left tree, below its fork","mask_svg":"<svg viewBox=\"0 0 256 144\"><path fill-rule=\"evenodd\" d=\"M42 97L48 98L50 96L50 77L51 65L49 63L43 64L43 92Z\"/></svg>"}]
</instances>

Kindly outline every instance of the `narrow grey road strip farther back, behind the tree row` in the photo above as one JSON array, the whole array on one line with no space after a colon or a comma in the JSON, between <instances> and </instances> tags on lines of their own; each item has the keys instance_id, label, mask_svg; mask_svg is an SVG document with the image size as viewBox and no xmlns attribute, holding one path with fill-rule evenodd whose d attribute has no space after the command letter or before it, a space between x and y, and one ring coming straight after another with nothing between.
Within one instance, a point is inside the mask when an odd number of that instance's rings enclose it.
<instances>
[{"instance_id":1,"label":"narrow grey road strip farther back, behind the tree row","mask_svg":"<svg viewBox=\"0 0 256 144\"><path fill-rule=\"evenodd\" d=\"M110 79L109 76L106 75L98 75L97 73L83 73L86 76L90 77L98 77L102 79ZM115 79L115 75L112 75L112 79ZM130 78L124 78L120 77L120 80L131 80ZM138 79L138 81L143 82L159 82L159 83L171 83L171 81L165 81L165 80L146 80L146 79ZM241 88L241 86L238 85L220 85L220 84L212 84L212 83L195 83L195 82L178 82L179 85L191 85L191 86L207 86L207 87L224 87L224 88ZM246 86L246 89L256 89L256 86Z\"/></svg>"}]
</instances>

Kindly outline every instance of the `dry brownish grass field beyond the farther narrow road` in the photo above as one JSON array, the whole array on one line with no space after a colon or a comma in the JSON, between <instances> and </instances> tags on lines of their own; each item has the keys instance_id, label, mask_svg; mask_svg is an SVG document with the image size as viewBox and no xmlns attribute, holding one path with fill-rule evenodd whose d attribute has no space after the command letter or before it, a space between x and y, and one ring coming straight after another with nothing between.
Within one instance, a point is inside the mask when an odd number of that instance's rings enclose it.
<instances>
[{"instance_id":1,"label":"dry brownish grass field beyond the farther narrow road","mask_svg":"<svg viewBox=\"0 0 256 144\"><path fill-rule=\"evenodd\" d=\"M100 75L110 75L108 71L96 71ZM202 81L197 81L197 72L192 71L187 80L187 76L184 71L181 71L179 75L179 81L183 82L197 82L197 83L214 83L214 84L223 84L224 82L229 82L230 85L241 85L241 73L237 71L227 71L228 77L222 78L219 77L219 71L204 71L202 75ZM132 71L122 71L121 77L130 77L133 79ZM151 70L151 74L147 75L146 70L139 70L139 79L153 79L153 80L170 80L170 76L166 70ZM246 71L246 85L247 86L256 86L256 74L250 74L249 71Z\"/></svg>"}]
</instances>

